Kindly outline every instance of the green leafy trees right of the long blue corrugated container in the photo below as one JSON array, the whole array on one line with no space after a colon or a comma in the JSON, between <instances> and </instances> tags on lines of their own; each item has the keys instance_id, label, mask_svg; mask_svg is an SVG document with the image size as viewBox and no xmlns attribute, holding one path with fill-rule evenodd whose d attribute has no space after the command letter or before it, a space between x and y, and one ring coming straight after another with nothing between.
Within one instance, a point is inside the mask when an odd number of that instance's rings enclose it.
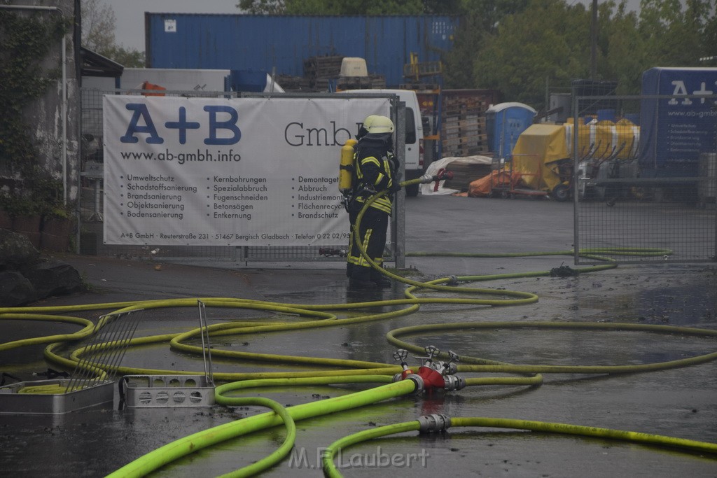
<instances>
[{"instance_id":1,"label":"green leafy trees right of the long blue corrugated container","mask_svg":"<svg viewBox=\"0 0 717 478\"><path fill-rule=\"evenodd\" d=\"M568 3L531 0L523 11L499 21L493 34L475 32L478 24L462 29L457 46L468 45L478 54L471 58L463 51L472 63L470 75L460 62L447 62L452 87L494 88L507 101L541 108L546 80L565 88L572 80L589 78L592 15L582 4ZM627 11L625 1L601 1L594 80L617 80L619 94L637 94L642 72L651 67L707 66L700 57L717 50L716 13L710 5L710 0L691 0L683 9L680 1L643 0L638 15Z\"/></svg>"}]
</instances>

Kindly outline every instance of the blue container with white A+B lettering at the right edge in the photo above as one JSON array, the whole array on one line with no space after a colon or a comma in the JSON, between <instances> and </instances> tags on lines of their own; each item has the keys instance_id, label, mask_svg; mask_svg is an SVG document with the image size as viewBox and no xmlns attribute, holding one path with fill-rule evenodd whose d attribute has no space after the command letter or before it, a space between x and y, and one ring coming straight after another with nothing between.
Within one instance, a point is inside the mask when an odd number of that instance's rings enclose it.
<instances>
[{"instance_id":1,"label":"blue container with white A+B lettering at the right edge","mask_svg":"<svg viewBox=\"0 0 717 478\"><path fill-rule=\"evenodd\" d=\"M696 176L700 153L717 150L717 68L650 68L642 73L642 176ZM698 96L688 96L698 95Z\"/></svg>"}]
</instances>

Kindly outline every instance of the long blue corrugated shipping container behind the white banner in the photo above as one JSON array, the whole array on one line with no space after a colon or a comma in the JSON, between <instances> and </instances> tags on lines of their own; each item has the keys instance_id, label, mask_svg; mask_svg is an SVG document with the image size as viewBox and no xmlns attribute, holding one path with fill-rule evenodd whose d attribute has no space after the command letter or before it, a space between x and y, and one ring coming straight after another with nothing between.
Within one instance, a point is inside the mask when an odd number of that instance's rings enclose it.
<instances>
[{"instance_id":1,"label":"long blue corrugated shipping container behind the white banner","mask_svg":"<svg viewBox=\"0 0 717 478\"><path fill-rule=\"evenodd\" d=\"M452 48L458 16L281 16L145 13L151 68L260 70L302 77L310 57L366 59L386 85L406 82L411 53L440 60Z\"/></svg>"}]
</instances>

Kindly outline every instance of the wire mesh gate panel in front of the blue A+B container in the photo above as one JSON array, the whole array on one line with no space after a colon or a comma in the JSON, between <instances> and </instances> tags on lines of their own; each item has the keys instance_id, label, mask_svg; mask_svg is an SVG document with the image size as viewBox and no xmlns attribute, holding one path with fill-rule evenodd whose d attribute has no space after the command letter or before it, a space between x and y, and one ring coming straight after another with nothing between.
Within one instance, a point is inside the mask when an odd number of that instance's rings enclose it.
<instances>
[{"instance_id":1,"label":"wire mesh gate panel in front of the blue A+B container","mask_svg":"<svg viewBox=\"0 0 717 478\"><path fill-rule=\"evenodd\" d=\"M716 260L717 95L574 97L571 120L576 264Z\"/></svg>"}]
</instances>

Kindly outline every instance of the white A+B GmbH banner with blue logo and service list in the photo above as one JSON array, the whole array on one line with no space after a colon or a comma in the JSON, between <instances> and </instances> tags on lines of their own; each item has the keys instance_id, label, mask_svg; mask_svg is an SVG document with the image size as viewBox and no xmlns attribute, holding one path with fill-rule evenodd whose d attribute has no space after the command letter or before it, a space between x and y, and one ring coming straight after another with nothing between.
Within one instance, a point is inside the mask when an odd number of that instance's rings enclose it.
<instances>
[{"instance_id":1,"label":"white A+B GmbH banner with blue logo and service list","mask_svg":"<svg viewBox=\"0 0 717 478\"><path fill-rule=\"evenodd\" d=\"M107 244L348 242L341 146L387 98L106 95Z\"/></svg>"}]
</instances>

